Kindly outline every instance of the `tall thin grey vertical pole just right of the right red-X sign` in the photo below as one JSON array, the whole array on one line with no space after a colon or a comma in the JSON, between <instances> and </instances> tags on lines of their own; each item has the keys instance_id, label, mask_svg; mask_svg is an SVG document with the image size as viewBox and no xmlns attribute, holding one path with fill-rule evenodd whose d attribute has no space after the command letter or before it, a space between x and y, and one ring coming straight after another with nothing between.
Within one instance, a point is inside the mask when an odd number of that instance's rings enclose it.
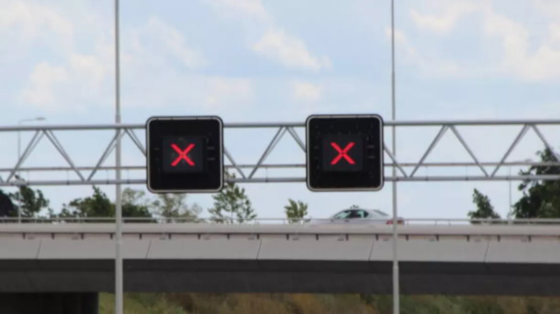
<instances>
[{"instance_id":1,"label":"tall thin grey vertical pole just right of the right red-X sign","mask_svg":"<svg viewBox=\"0 0 560 314\"><path fill-rule=\"evenodd\" d=\"M396 120L396 97L395 97L395 1L391 0L391 120ZM393 137L393 155L396 158L396 129L391 127ZM393 164L393 178L396 177L396 165ZM398 258L398 219L396 210L396 180L393 180L393 314L400 313L399 292L399 258Z\"/></svg>"}]
</instances>

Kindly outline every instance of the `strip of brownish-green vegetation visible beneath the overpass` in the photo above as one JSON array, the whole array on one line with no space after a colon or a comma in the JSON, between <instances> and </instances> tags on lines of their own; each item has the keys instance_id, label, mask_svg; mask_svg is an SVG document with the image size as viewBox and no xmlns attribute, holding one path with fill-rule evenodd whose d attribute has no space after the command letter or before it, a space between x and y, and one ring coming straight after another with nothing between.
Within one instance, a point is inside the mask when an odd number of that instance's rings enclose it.
<instances>
[{"instance_id":1,"label":"strip of brownish-green vegetation visible beneath the overpass","mask_svg":"<svg viewBox=\"0 0 560 314\"><path fill-rule=\"evenodd\" d=\"M100 314L114 313L100 294ZM126 293L125 314L389 314L391 296L356 294ZM560 298L401 296L403 314L557 314Z\"/></svg>"}]
</instances>

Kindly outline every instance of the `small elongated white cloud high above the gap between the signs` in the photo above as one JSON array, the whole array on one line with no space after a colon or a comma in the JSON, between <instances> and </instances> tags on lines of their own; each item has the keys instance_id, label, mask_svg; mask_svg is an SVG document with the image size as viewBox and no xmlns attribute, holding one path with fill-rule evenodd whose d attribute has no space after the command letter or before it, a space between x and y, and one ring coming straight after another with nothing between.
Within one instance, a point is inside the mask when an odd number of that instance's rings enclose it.
<instances>
[{"instance_id":1,"label":"small elongated white cloud high above the gap between the signs","mask_svg":"<svg viewBox=\"0 0 560 314\"><path fill-rule=\"evenodd\" d=\"M270 30L253 45L253 50L270 59L278 60L289 68L318 71L329 69L332 64L328 57L312 56L305 43L284 31Z\"/></svg>"}]
</instances>

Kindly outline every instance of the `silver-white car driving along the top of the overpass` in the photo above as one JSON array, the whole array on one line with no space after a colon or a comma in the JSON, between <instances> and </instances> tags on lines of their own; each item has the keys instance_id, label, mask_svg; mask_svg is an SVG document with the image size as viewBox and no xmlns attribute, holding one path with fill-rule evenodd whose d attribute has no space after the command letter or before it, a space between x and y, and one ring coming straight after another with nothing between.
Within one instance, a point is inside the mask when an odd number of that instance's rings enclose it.
<instances>
[{"instance_id":1,"label":"silver-white car driving along the top of the overpass","mask_svg":"<svg viewBox=\"0 0 560 314\"><path fill-rule=\"evenodd\" d=\"M397 217L399 225L404 225L404 219ZM393 216L380 210L366 210L364 208L348 208L335 213L327 219L311 220L313 225L330 225L333 223L365 223L376 225L392 225Z\"/></svg>"}]
</instances>

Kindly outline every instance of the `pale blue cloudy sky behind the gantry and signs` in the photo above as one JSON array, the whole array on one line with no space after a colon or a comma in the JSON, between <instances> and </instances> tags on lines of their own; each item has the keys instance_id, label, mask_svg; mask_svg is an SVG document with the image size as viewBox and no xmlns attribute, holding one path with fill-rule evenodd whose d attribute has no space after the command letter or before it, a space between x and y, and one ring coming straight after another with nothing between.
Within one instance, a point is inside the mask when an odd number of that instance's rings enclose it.
<instances>
[{"instance_id":1,"label":"pale blue cloudy sky behind the gantry and signs","mask_svg":"<svg viewBox=\"0 0 560 314\"><path fill-rule=\"evenodd\" d=\"M229 122L303 122L313 113L378 113L391 120L389 0L122 0L122 121L161 115L218 115ZM110 0L0 0L0 126L96 125L115 121L114 6ZM396 120L560 118L560 2L557 0L400 0L395 4ZM497 162L520 127L459 127L480 161ZM237 163L256 164L276 130L225 131ZM297 130L304 137L304 130ZM399 127L396 158L415 163L437 127ZM540 127L560 148L560 126ZM57 131L78 166L93 166L111 131ZM137 131L144 139L144 132ZM25 148L32 132L21 133ZM17 160L17 132L0 134L0 168ZM385 142L391 142L389 129ZM532 131L508 161L535 158ZM390 162L388 156L385 161ZM472 161L451 132L426 162ZM265 163L305 163L284 136ZM105 165L114 164L111 154ZM144 165L127 137L123 165ZM24 166L67 166L44 139ZM520 168L503 168L499 174ZM407 168L410 172L412 168ZM487 168L489 172L491 168ZM390 175L390 168L386 168ZM0 172L3 178L7 172ZM85 172L84 175L88 175ZM426 168L418 175L479 175L476 168ZM259 170L256 177L303 177L305 169ZM27 180L76 179L71 172L24 172ZM100 171L96 179L113 178ZM125 171L124 178L144 178ZM520 197L515 191L513 201ZM312 193L305 183L243 184L260 217L283 217L288 198L312 217L352 204L391 212L391 184L379 192ZM501 215L500 182L398 183L399 216L464 218L472 191ZM143 185L132 188L144 189ZM37 187L57 210L91 187ZM115 187L102 189L114 198ZM9 188L7 188L10 191ZM212 206L208 194L189 202ZM206 213L203 216L207 216Z\"/></svg>"}]
</instances>

